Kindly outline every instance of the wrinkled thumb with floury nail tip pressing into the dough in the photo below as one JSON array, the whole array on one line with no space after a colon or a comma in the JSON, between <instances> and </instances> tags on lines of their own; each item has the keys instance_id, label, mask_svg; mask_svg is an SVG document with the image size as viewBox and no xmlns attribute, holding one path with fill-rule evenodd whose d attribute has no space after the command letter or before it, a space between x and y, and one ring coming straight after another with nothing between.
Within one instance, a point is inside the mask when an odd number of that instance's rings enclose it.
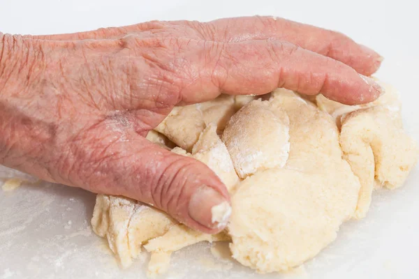
<instances>
[{"instance_id":1,"label":"wrinkled thumb with floury nail tip pressing into the dough","mask_svg":"<svg viewBox=\"0 0 419 279\"><path fill-rule=\"evenodd\" d=\"M90 181L84 185L87 190L137 199L208 234L226 227L231 212L228 190L207 165L166 151L135 132L93 150L89 160L79 160L94 169L80 177ZM92 160L98 163L92 166Z\"/></svg>"}]
</instances>

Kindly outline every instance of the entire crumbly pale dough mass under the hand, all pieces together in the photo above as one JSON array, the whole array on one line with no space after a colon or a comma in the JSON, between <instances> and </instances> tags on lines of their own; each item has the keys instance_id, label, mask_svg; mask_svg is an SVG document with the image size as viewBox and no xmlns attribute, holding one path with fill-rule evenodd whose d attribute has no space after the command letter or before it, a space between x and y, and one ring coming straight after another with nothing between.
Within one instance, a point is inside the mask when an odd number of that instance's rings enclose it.
<instances>
[{"instance_id":1,"label":"entire crumbly pale dough mass under the hand, all pieces together","mask_svg":"<svg viewBox=\"0 0 419 279\"><path fill-rule=\"evenodd\" d=\"M94 232L122 267L142 246L151 252L150 275L167 271L172 252L200 241L230 241L238 262L263 273L302 264L336 238L341 223L366 216L374 187L402 186L416 163L399 94L383 85L387 93L360 106L277 89L263 100L221 95L175 107L147 139L220 177L232 195L228 228L202 234L146 204L98 195Z\"/></svg>"}]
</instances>

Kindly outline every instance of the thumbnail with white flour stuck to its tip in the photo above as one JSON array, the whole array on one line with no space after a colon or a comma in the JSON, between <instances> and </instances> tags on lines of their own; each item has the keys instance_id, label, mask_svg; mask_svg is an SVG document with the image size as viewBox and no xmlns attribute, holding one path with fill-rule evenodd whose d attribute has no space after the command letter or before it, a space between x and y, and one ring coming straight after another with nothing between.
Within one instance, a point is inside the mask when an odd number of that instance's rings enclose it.
<instances>
[{"instance_id":1,"label":"thumbnail with white flour stuck to its tip","mask_svg":"<svg viewBox=\"0 0 419 279\"><path fill-rule=\"evenodd\" d=\"M189 216L210 229L223 229L231 215L231 206L220 193L200 186L189 201Z\"/></svg>"}]
</instances>

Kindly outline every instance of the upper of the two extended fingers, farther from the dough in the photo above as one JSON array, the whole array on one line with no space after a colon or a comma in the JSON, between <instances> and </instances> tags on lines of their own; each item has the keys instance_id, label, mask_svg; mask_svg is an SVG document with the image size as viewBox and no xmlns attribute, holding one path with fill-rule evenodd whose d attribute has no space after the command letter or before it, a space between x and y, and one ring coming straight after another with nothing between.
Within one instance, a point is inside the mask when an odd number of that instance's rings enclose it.
<instances>
[{"instance_id":1,"label":"upper of the two extended fingers, farther from the dough","mask_svg":"<svg viewBox=\"0 0 419 279\"><path fill-rule=\"evenodd\" d=\"M342 33L278 17L227 18L207 22L198 29L216 41L284 40L341 61L363 75L375 73L383 61L374 50L355 43Z\"/></svg>"}]
</instances>

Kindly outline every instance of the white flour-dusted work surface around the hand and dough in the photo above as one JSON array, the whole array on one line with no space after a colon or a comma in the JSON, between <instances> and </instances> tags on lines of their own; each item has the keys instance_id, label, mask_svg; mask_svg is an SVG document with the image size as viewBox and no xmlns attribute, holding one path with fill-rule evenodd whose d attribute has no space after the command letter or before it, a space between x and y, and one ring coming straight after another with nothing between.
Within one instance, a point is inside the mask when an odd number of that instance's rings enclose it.
<instances>
[{"instance_id":1,"label":"white flour-dusted work surface around the hand and dough","mask_svg":"<svg viewBox=\"0 0 419 279\"><path fill-rule=\"evenodd\" d=\"M142 3L143 2L143 3ZM290 1L291 2L291 1ZM385 56L377 76L402 92L406 132L419 142L419 26L411 1L23 1L0 3L4 33L66 33L147 20L276 15L342 31ZM394 2L394 1L391 1ZM210 245L175 252L163 278L416 278L419 169L406 185L375 193L367 218L342 225L337 240L304 269L260 275L219 262ZM121 271L90 226L94 194L41 183L0 191L0 278L145 278L147 257Z\"/></svg>"}]
</instances>

